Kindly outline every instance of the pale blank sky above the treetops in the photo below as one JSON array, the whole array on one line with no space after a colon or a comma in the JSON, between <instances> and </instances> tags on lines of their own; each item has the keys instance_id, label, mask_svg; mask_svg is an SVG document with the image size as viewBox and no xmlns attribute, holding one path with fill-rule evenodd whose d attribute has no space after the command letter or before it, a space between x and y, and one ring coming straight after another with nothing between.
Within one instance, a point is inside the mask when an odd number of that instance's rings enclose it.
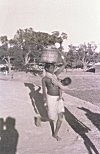
<instances>
[{"instance_id":1,"label":"pale blank sky above the treetops","mask_svg":"<svg viewBox=\"0 0 100 154\"><path fill-rule=\"evenodd\" d=\"M68 34L68 44L100 44L100 0L0 0L0 36L21 28Z\"/></svg>"}]
</instances>

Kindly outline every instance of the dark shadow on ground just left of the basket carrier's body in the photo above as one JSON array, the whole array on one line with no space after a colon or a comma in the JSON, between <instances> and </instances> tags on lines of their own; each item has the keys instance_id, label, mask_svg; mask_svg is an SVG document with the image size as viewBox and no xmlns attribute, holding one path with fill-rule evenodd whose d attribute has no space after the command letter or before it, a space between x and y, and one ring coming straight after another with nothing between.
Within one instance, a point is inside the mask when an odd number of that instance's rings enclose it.
<instances>
[{"instance_id":1,"label":"dark shadow on ground just left of the basket carrier's body","mask_svg":"<svg viewBox=\"0 0 100 154\"><path fill-rule=\"evenodd\" d=\"M32 83L24 83L26 87L30 89L30 99L34 108L36 115L40 115L42 121L48 121L47 110L44 107L43 94L40 93L41 87L38 86L38 89L35 90L35 85Z\"/></svg>"}]
</instances>

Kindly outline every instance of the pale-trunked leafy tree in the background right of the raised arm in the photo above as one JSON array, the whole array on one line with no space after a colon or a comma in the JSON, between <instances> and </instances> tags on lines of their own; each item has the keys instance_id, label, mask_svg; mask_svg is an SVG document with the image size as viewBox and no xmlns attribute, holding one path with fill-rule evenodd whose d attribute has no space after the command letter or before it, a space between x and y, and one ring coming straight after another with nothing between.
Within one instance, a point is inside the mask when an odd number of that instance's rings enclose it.
<instances>
[{"instance_id":1,"label":"pale-trunked leafy tree in the background right of the raised arm","mask_svg":"<svg viewBox=\"0 0 100 154\"><path fill-rule=\"evenodd\" d=\"M73 59L73 62L80 65L83 65L84 70L87 69L87 66L90 62L95 63L95 50L97 45L94 42L80 44L78 46L69 45L70 58Z\"/></svg>"}]
</instances>

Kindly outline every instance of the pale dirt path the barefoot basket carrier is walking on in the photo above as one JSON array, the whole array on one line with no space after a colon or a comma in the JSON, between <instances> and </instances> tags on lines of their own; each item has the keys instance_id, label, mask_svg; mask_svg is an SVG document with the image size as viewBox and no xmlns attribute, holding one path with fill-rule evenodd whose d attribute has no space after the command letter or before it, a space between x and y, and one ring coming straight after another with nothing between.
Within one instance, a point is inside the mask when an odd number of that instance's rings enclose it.
<instances>
[{"instance_id":1,"label":"pale dirt path the barefoot basket carrier is walking on","mask_svg":"<svg viewBox=\"0 0 100 154\"><path fill-rule=\"evenodd\" d=\"M34 124L36 113L30 96L38 94L41 98L42 95L37 87L34 87L37 93L32 93L31 88L32 84L0 80L0 118L5 120L10 116L16 121L18 154L88 154L91 149L94 153L100 151L100 108L65 94L65 119L60 130L62 140L57 142L51 136L48 121L42 122L40 127ZM86 133L88 129L91 131Z\"/></svg>"}]
</instances>

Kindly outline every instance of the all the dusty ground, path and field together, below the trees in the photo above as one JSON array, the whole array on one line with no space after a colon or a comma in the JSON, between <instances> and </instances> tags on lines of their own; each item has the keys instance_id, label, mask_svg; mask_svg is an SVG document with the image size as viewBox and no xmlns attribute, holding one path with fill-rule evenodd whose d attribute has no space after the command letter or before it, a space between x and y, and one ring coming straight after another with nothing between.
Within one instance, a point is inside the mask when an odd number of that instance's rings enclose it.
<instances>
[{"instance_id":1,"label":"all the dusty ground, path and field together, below the trees","mask_svg":"<svg viewBox=\"0 0 100 154\"><path fill-rule=\"evenodd\" d=\"M60 130L60 136L62 136L60 142L51 136L49 122L46 121L46 111L42 106L42 94L35 86L41 85L40 77L15 73L14 79L11 79L9 76L0 75L0 118L6 120L10 116L16 121L15 127L19 134L18 154L99 153L100 108L98 103L100 99L97 103L99 93L96 93L95 99L90 95L90 91L100 90L100 76L67 72L67 74L63 73L61 77L66 75L72 78L73 82L70 87L75 87L76 90L67 91L75 97L64 94L65 119ZM84 100L76 98L77 96ZM94 104L89 102L91 97ZM85 101L87 99L88 102ZM40 127L36 127L34 124L35 107L39 109L40 115L45 119L41 122Z\"/></svg>"}]
</instances>

